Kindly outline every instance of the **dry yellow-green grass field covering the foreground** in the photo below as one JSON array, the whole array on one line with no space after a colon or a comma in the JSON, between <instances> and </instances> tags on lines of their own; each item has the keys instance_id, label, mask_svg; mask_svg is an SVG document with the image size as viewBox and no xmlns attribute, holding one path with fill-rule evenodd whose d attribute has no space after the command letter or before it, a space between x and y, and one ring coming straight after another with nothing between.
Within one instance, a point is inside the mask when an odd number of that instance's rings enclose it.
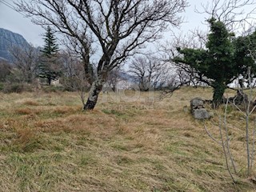
<instances>
[{"instance_id":1,"label":"dry yellow-green grass field covering the foreground","mask_svg":"<svg viewBox=\"0 0 256 192\"><path fill-rule=\"evenodd\" d=\"M228 111L234 185L222 147L190 115L190 99L210 99L211 90L148 97L101 95L94 111L83 112L76 93L0 94L0 191L256 191L246 178L245 125L237 110ZM216 123L218 117L206 126L218 138Z\"/></svg>"}]
</instances>

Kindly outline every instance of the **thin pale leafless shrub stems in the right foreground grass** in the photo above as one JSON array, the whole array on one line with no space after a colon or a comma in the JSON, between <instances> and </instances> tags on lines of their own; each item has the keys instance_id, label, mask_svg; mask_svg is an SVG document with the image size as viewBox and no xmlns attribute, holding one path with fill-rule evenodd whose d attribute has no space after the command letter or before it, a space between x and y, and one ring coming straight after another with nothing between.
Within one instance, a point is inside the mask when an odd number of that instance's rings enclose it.
<instances>
[{"instance_id":1,"label":"thin pale leafless shrub stems in the right foreground grass","mask_svg":"<svg viewBox=\"0 0 256 192\"><path fill-rule=\"evenodd\" d=\"M210 133L209 130L207 130L206 125L204 125L206 133L214 140L214 142L217 142L219 145L222 146L223 154L225 156L226 160L226 168L229 171L230 177L232 178L233 182L235 183L235 179L232 173L232 170L230 166L232 167L234 174L238 174L237 168L234 163L233 154L230 152L230 130L227 126L227 108L228 105L233 105L243 116L245 119L245 128L243 129L243 134L246 138L246 174L247 177L250 177L252 174L252 169L254 166L254 145L255 145L255 131L256 131L256 118L254 118L253 121L251 121L251 114L254 112L256 106L254 106L253 101L253 87L251 86L252 79L250 78L250 67L248 68L248 73L246 74L247 81L249 82L249 95L246 95L244 90L239 90L239 94L242 95L242 103L239 103L238 105L235 101L236 98L232 98L231 100L229 98L226 99L226 106L224 114L218 114L219 123L218 123L218 129L219 129L219 135L220 140L217 138L214 138L214 136ZM252 125L253 124L253 125Z\"/></svg>"}]
</instances>

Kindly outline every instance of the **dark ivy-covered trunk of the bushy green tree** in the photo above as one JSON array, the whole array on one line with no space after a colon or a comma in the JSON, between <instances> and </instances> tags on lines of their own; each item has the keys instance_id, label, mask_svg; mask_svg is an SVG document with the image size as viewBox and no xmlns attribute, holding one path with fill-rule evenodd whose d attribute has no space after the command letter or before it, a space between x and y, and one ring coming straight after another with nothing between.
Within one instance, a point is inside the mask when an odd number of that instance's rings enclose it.
<instances>
[{"instance_id":1,"label":"dark ivy-covered trunk of the bushy green tree","mask_svg":"<svg viewBox=\"0 0 256 192\"><path fill-rule=\"evenodd\" d=\"M213 87L214 87L214 97L213 97L212 107L218 108L218 106L223 103L223 94L226 90L226 85L223 82L215 82Z\"/></svg>"}]
</instances>

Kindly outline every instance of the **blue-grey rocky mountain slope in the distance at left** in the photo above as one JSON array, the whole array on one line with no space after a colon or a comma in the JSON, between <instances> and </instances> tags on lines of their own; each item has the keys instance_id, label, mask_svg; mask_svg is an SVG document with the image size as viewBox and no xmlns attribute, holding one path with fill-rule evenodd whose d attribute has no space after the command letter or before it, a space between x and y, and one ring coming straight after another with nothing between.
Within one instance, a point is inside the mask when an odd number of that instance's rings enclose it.
<instances>
[{"instance_id":1,"label":"blue-grey rocky mountain slope in the distance at left","mask_svg":"<svg viewBox=\"0 0 256 192\"><path fill-rule=\"evenodd\" d=\"M15 34L10 30L0 28L0 59L11 61L10 49L12 46L30 46L21 34Z\"/></svg>"}]
</instances>

